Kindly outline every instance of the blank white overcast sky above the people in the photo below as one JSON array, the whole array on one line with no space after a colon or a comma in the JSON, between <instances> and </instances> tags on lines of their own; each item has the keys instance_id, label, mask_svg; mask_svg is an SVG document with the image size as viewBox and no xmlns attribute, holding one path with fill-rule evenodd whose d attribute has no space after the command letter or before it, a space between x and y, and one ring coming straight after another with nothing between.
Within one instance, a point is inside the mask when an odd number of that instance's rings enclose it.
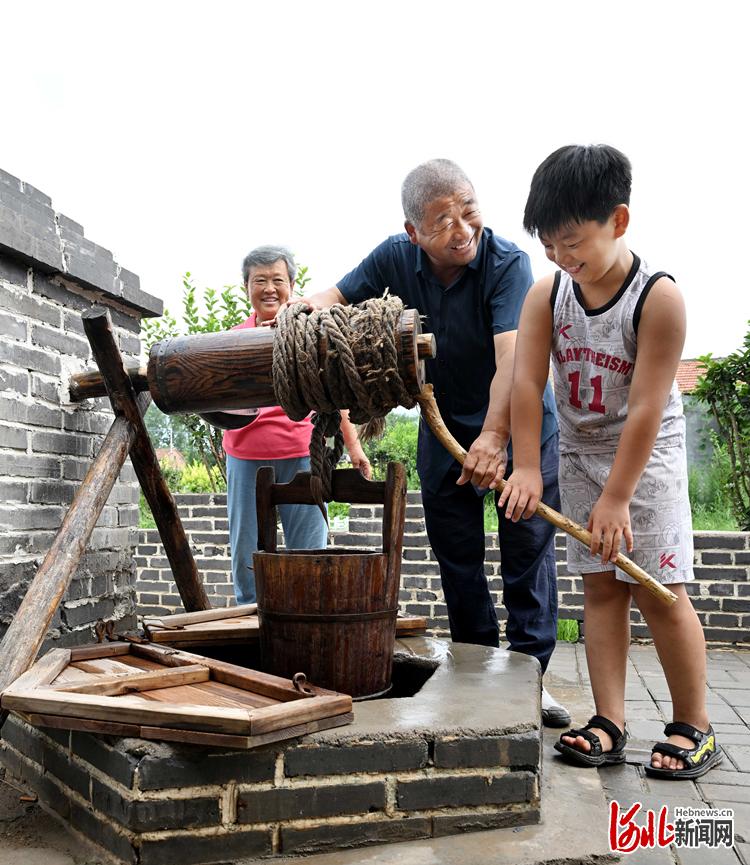
<instances>
[{"instance_id":1,"label":"blank white overcast sky above the people","mask_svg":"<svg viewBox=\"0 0 750 865\"><path fill-rule=\"evenodd\" d=\"M521 226L572 142L631 158L631 249L672 273L684 356L750 318L750 76L741 4L6 2L0 168L51 196L179 309L288 244L324 289L401 230L400 183L454 159L485 223Z\"/></svg>"}]
</instances>

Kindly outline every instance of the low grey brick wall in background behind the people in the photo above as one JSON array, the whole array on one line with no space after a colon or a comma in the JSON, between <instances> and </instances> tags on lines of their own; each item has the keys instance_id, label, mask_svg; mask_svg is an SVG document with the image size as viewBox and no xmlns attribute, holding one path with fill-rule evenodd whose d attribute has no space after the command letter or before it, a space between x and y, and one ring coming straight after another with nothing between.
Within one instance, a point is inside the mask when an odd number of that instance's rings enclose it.
<instances>
[{"instance_id":1,"label":"low grey brick wall in background behind the people","mask_svg":"<svg viewBox=\"0 0 750 865\"><path fill-rule=\"evenodd\" d=\"M234 603L226 520L226 496L177 496L180 514L190 533L198 568L214 607ZM333 532L334 547L371 549L381 543L381 507L353 505L349 531ZM583 584L565 566L565 535L556 538L560 618L583 622ZM502 605L503 581L497 537L486 537L486 567L500 627L506 618ZM156 530L141 530L136 551L139 612L164 615L182 609L169 564ZM688 584L706 639L717 643L750 642L750 532L696 532L695 576ZM440 574L424 528L419 493L408 494L404 549L401 562L401 610L426 616L436 636L446 636L448 614ZM636 609L632 634L645 638L648 631Z\"/></svg>"}]
</instances>

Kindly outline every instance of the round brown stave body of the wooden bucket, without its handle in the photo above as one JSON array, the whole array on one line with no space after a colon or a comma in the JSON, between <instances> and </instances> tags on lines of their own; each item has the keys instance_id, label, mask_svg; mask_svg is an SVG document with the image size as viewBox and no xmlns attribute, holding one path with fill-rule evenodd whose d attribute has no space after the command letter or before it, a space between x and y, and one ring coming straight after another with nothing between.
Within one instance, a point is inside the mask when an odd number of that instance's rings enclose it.
<instances>
[{"instance_id":1,"label":"round brown stave body of the wooden bucket, without its handle","mask_svg":"<svg viewBox=\"0 0 750 865\"><path fill-rule=\"evenodd\" d=\"M398 583L362 550L256 553L264 669L366 698L391 686Z\"/></svg>"}]
</instances>

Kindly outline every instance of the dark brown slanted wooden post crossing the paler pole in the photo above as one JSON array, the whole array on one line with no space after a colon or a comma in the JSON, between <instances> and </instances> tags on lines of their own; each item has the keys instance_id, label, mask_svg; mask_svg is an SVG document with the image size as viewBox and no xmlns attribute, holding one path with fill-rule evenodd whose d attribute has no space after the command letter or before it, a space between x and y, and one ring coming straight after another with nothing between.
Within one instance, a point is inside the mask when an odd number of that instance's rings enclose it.
<instances>
[{"instance_id":1,"label":"dark brown slanted wooden post crossing the paler pole","mask_svg":"<svg viewBox=\"0 0 750 865\"><path fill-rule=\"evenodd\" d=\"M211 606L193 558L172 493L159 468L133 385L117 348L109 313L103 308L86 310L81 315L83 329L91 343L94 359L107 386L115 415L123 415L133 425L135 438L130 460L146 497L185 610L207 610Z\"/></svg>"}]
</instances>

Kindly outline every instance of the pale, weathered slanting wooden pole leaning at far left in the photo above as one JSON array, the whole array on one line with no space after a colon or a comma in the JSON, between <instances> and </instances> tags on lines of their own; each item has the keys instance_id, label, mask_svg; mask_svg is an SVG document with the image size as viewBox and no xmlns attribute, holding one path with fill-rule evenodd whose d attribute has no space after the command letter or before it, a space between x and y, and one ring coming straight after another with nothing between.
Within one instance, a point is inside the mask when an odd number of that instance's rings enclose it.
<instances>
[{"instance_id":1,"label":"pale, weathered slanting wooden pole leaning at far left","mask_svg":"<svg viewBox=\"0 0 750 865\"><path fill-rule=\"evenodd\" d=\"M151 397L143 394L138 401L145 411ZM0 692L34 663L134 438L133 425L115 418L0 643ZM2 713L0 723L4 720Z\"/></svg>"}]
</instances>

